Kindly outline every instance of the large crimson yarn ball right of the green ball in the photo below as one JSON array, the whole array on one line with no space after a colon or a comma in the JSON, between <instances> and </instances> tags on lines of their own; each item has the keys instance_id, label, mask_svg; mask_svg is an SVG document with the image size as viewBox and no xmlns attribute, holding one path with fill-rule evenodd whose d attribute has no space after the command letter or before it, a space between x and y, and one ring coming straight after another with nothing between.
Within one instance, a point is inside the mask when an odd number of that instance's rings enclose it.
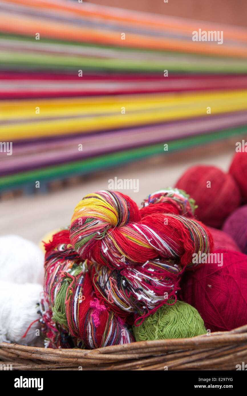
<instances>
[{"instance_id":1,"label":"large crimson yarn ball right of the green ball","mask_svg":"<svg viewBox=\"0 0 247 396\"><path fill-rule=\"evenodd\" d=\"M180 298L198 310L206 329L229 331L247 324L247 256L224 249L214 253L222 253L222 267L207 263L185 273Z\"/></svg>"}]
</instances>

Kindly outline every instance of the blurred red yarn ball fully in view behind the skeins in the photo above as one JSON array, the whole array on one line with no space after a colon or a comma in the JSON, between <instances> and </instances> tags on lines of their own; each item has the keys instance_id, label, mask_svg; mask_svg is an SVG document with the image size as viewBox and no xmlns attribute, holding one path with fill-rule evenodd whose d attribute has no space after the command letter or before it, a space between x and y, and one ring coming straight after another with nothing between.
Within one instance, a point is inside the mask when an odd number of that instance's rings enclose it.
<instances>
[{"instance_id":1,"label":"blurred red yarn ball fully in view behind the skeins","mask_svg":"<svg viewBox=\"0 0 247 396\"><path fill-rule=\"evenodd\" d=\"M220 228L226 217L240 204L240 191L229 173L214 166L193 166L176 183L195 199L195 215L211 227Z\"/></svg>"}]
</instances>

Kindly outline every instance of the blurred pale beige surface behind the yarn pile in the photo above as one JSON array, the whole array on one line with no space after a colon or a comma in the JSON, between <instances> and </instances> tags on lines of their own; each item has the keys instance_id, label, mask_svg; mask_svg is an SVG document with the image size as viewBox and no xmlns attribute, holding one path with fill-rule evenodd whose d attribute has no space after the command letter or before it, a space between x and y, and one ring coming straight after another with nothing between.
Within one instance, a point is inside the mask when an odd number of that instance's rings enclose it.
<instances>
[{"instance_id":1,"label":"blurred pale beige surface behind the yarn pile","mask_svg":"<svg viewBox=\"0 0 247 396\"><path fill-rule=\"evenodd\" d=\"M211 164L227 171L235 152L234 140L186 152L164 154L135 164L88 176L79 185L0 202L0 235L17 234L38 243L49 231L70 223L76 204L88 193L108 189L108 180L139 179L139 191L121 190L140 205L150 193L173 187L191 165ZM220 154L219 154L220 153ZM59 183L58 183L59 184Z\"/></svg>"}]
</instances>

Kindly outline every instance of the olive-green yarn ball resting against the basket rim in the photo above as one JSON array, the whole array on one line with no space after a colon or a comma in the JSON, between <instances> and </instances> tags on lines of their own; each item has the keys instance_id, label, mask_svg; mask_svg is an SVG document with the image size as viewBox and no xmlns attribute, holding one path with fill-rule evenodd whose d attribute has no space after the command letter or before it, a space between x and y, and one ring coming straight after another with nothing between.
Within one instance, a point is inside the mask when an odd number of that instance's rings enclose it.
<instances>
[{"instance_id":1,"label":"olive-green yarn ball resting against the basket rim","mask_svg":"<svg viewBox=\"0 0 247 396\"><path fill-rule=\"evenodd\" d=\"M175 300L168 300L168 304ZM207 333L198 311L184 301L162 305L147 316L140 326L133 326L136 341L195 337Z\"/></svg>"}]
</instances>

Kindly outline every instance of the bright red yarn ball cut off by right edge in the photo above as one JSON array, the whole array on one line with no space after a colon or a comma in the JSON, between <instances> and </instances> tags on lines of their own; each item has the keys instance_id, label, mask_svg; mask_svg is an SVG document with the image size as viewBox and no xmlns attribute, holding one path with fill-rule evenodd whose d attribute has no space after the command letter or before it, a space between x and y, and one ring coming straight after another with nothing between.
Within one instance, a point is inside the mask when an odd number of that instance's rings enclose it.
<instances>
[{"instance_id":1,"label":"bright red yarn ball cut off by right edge","mask_svg":"<svg viewBox=\"0 0 247 396\"><path fill-rule=\"evenodd\" d=\"M236 152L229 173L240 189L243 202L247 202L247 152Z\"/></svg>"}]
</instances>

